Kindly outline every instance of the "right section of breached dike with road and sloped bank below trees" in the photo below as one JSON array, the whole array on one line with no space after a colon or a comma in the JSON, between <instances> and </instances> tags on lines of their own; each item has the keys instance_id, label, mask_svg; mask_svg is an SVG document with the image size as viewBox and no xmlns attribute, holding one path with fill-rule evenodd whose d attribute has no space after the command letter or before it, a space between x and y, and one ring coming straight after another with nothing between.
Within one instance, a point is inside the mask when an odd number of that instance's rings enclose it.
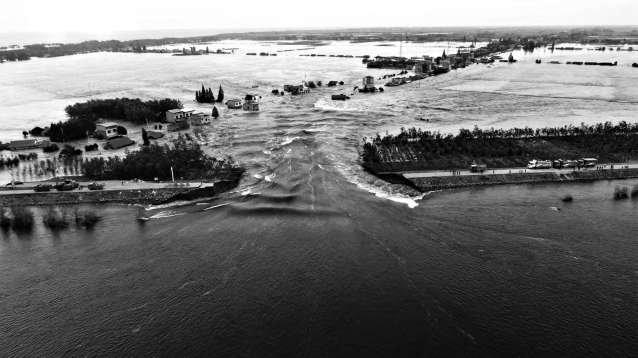
<instances>
[{"instance_id":1,"label":"right section of breached dike with road and sloped bank below trees","mask_svg":"<svg viewBox=\"0 0 638 358\"><path fill-rule=\"evenodd\" d=\"M582 170L565 173L512 173L440 176L408 179L423 192L482 185L571 183L638 178L638 169Z\"/></svg>"}]
</instances>

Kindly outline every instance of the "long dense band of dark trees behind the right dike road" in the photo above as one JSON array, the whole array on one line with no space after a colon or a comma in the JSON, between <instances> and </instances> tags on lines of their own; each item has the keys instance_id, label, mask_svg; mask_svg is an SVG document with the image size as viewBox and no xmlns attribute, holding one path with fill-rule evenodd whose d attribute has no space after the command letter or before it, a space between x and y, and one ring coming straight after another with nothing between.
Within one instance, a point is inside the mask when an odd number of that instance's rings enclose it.
<instances>
[{"instance_id":1,"label":"long dense band of dark trees behind the right dike road","mask_svg":"<svg viewBox=\"0 0 638 358\"><path fill-rule=\"evenodd\" d=\"M531 159L624 161L638 157L637 134L638 125L609 122L540 129L461 129L457 135L411 128L397 135L364 138L361 159L368 166L400 163L397 170L462 168L473 161L493 168L524 165Z\"/></svg>"}]
</instances>

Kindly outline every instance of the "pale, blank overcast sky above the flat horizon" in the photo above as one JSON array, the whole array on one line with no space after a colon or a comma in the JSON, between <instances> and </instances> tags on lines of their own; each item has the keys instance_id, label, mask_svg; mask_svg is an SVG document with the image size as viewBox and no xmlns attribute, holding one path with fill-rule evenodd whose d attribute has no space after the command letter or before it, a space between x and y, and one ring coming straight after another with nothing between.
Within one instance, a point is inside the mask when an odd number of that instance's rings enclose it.
<instances>
[{"instance_id":1,"label":"pale, blank overcast sky above the flat horizon","mask_svg":"<svg viewBox=\"0 0 638 358\"><path fill-rule=\"evenodd\" d=\"M0 33L456 25L636 25L638 0L3 0Z\"/></svg>"}]
</instances>

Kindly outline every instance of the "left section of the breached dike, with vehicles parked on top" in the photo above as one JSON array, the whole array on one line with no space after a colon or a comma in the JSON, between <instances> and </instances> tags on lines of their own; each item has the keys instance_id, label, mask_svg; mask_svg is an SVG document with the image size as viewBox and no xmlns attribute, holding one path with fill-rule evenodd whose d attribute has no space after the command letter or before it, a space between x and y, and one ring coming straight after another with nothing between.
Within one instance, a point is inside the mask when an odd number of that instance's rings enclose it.
<instances>
[{"instance_id":1,"label":"left section of the breached dike, with vehicles parked on top","mask_svg":"<svg viewBox=\"0 0 638 358\"><path fill-rule=\"evenodd\" d=\"M195 200L215 196L235 188L238 184L239 180L224 180L216 182L214 185L197 188L165 187L152 189L4 193L0 195L0 206L99 203L158 205L179 200Z\"/></svg>"}]
</instances>

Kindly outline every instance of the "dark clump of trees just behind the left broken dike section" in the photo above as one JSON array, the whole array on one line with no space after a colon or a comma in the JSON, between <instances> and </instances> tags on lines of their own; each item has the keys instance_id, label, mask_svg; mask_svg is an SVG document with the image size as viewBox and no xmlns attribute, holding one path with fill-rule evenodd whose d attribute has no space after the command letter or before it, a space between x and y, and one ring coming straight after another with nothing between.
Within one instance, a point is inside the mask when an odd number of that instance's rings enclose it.
<instances>
[{"instance_id":1,"label":"dark clump of trees just behind the left broken dike section","mask_svg":"<svg viewBox=\"0 0 638 358\"><path fill-rule=\"evenodd\" d=\"M84 175L94 180L213 179L241 170L232 159L209 157L194 140L179 135L171 144L151 144L124 158L91 158L82 163Z\"/></svg>"}]
</instances>

